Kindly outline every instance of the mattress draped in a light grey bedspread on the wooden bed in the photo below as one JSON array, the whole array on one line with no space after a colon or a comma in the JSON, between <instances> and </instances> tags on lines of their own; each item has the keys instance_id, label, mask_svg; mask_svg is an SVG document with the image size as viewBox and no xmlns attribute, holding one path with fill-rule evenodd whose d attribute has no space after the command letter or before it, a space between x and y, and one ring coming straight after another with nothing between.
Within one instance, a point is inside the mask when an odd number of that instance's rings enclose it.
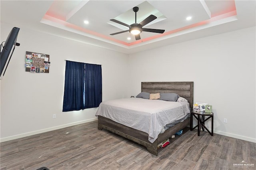
<instances>
[{"instance_id":1,"label":"mattress draped in a light grey bedspread on the wooden bed","mask_svg":"<svg viewBox=\"0 0 256 170\"><path fill-rule=\"evenodd\" d=\"M188 102L171 102L142 98L127 98L100 103L96 116L106 117L146 132L153 143L166 125L182 120L190 113Z\"/></svg>"}]
</instances>

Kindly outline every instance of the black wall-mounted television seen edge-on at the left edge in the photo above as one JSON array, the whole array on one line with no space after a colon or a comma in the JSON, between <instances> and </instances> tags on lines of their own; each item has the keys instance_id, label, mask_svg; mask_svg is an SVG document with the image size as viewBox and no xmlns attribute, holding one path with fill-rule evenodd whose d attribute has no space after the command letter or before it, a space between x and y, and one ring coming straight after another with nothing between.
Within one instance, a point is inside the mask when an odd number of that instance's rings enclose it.
<instances>
[{"instance_id":1,"label":"black wall-mounted television seen edge-on at the left edge","mask_svg":"<svg viewBox=\"0 0 256 170\"><path fill-rule=\"evenodd\" d=\"M4 73L10 62L15 46L20 45L19 43L16 43L19 31L20 31L20 28L17 28L17 27L12 28L5 43L4 42L1 43L0 49L3 47L3 50L0 53L0 70L1 70L0 79L2 79L4 76Z\"/></svg>"}]
</instances>

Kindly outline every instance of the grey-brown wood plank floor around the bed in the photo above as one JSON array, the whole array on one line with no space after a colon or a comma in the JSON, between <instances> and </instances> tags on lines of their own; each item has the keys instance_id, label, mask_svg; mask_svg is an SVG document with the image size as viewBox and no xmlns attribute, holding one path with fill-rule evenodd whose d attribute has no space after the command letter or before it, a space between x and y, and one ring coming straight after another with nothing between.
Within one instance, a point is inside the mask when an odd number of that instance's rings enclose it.
<instances>
[{"instance_id":1,"label":"grey-brown wood plank floor around the bed","mask_svg":"<svg viewBox=\"0 0 256 170\"><path fill-rule=\"evenodd\" d=\"M184 129L150 154L144 146L98 130L97 121L0 144L1 170L238 170L256 169L256 143ZM188 131L187 131L188 130ZM186 132L187 131L187 132ZM238 166L242 161L248 166ZM242 163L244 164L244 163Z\"/></svg>"}]
</instances>

